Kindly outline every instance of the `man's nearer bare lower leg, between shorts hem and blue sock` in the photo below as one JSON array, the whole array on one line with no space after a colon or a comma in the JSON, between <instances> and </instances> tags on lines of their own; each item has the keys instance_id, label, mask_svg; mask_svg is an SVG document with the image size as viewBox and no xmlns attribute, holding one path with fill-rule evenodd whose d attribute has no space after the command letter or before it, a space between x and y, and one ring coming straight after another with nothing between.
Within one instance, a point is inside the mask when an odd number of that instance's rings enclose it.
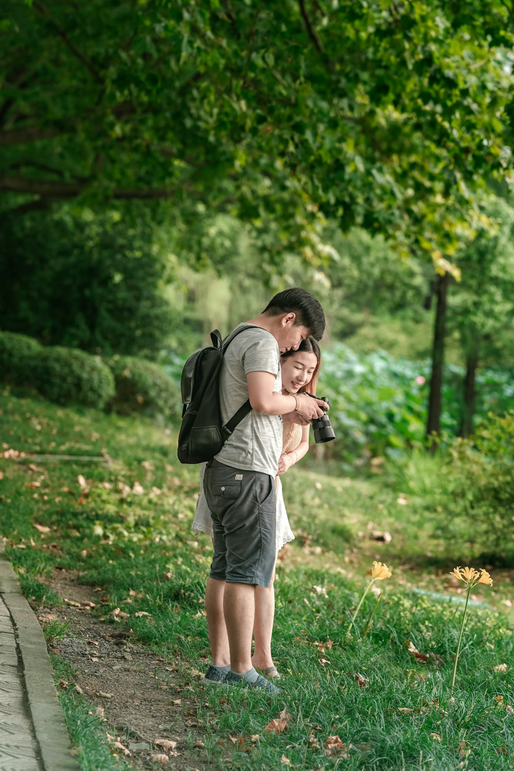
<instances>
[{"instance_id":1,"label":"man's nearer bare lower leg, between shorts hem and blue sock","mask_svg":"<svg viewBox=\"0 0 514 771\"><path fill-rule=\"evenodd\" d=\"M251 647L255 615L254 584L226 583L223 600L230 646L230 669L238 675L252 668Z\"/></svg>"}]
</instances>

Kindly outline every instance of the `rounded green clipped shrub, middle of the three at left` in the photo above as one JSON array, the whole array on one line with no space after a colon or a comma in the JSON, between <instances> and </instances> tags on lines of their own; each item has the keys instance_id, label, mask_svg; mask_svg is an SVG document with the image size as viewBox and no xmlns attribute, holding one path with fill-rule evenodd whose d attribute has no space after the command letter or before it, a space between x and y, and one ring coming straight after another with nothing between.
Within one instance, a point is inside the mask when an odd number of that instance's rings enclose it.
<instances>
[{"instance_id":1,"label":"rounded green clipped shrub, middle of the three at left","mask_svg":"<svg viewBox=\"0 0 514 771\"><path fill-rule=\"evenodd\" d=\"M114 394L114 378L99 356L62 348L42 348L35 359L32 382L45 399L102 409Z\"/></svg>"}]
</instances>

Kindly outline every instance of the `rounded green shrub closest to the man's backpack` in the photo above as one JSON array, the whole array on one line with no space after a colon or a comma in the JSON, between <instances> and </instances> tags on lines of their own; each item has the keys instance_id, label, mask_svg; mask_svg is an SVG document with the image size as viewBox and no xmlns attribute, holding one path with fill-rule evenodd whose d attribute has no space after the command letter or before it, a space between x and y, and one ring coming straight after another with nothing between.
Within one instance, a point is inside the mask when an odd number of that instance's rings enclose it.
<instances>
[{"instance_id":1,"label":"rounded green shrub closest to the man's backpack","mask_svg":"<svg viewBox=\"0 0 514 771\"><path fill-rule=\"evenodd\" d=\"M113 356L107 361L116 382L116 395L109 408L120 415L160 412L178 415L180 390L160 366L134 356Z\"/></svg>"}]
</instances>

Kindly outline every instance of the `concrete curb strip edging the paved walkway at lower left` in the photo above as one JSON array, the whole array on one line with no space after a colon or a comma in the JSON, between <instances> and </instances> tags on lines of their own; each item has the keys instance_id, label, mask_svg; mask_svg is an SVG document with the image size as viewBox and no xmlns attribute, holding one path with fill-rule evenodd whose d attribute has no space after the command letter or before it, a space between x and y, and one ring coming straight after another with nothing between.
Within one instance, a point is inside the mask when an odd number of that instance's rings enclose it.
<instances>
[{"instance_id":1,"label":"concrete curb strip edging the paved walkway at lower left","mask_svg":"<svg viewBox=\"0 0 514 771\"><path fill-rule=\"evenodd\" d=\"M45 635L0 542L0 593L11 614L35 738L45 771L79 771L53 681Z\"/></svg>"}]
</instances>

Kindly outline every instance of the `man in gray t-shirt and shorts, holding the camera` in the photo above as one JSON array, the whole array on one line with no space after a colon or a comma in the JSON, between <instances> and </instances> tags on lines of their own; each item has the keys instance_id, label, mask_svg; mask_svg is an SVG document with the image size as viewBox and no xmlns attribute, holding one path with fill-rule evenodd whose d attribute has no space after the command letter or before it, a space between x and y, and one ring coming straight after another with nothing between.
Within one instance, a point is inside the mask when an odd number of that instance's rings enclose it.
<instances>
[{"instance_id":1,"label":"man in gray t-shirt and shorts, holding the camera","mask_svg":"<svg viewBox=\"0 0 514 771\"><path fill-rule=\"evenodd\" d=\"M284 396L280 356L304 338L319 340L325 319L304 289L280 292L227 347L220 374L223 423L250 399L251 412L207 464L203 490L213 520L214 555L205 607L213 663L203 682L279 692L252 667L256 585L269 587L275 561L275 482L282 416L306 425L324 414L307 394Z\"/></svg>"}]
</instances>

